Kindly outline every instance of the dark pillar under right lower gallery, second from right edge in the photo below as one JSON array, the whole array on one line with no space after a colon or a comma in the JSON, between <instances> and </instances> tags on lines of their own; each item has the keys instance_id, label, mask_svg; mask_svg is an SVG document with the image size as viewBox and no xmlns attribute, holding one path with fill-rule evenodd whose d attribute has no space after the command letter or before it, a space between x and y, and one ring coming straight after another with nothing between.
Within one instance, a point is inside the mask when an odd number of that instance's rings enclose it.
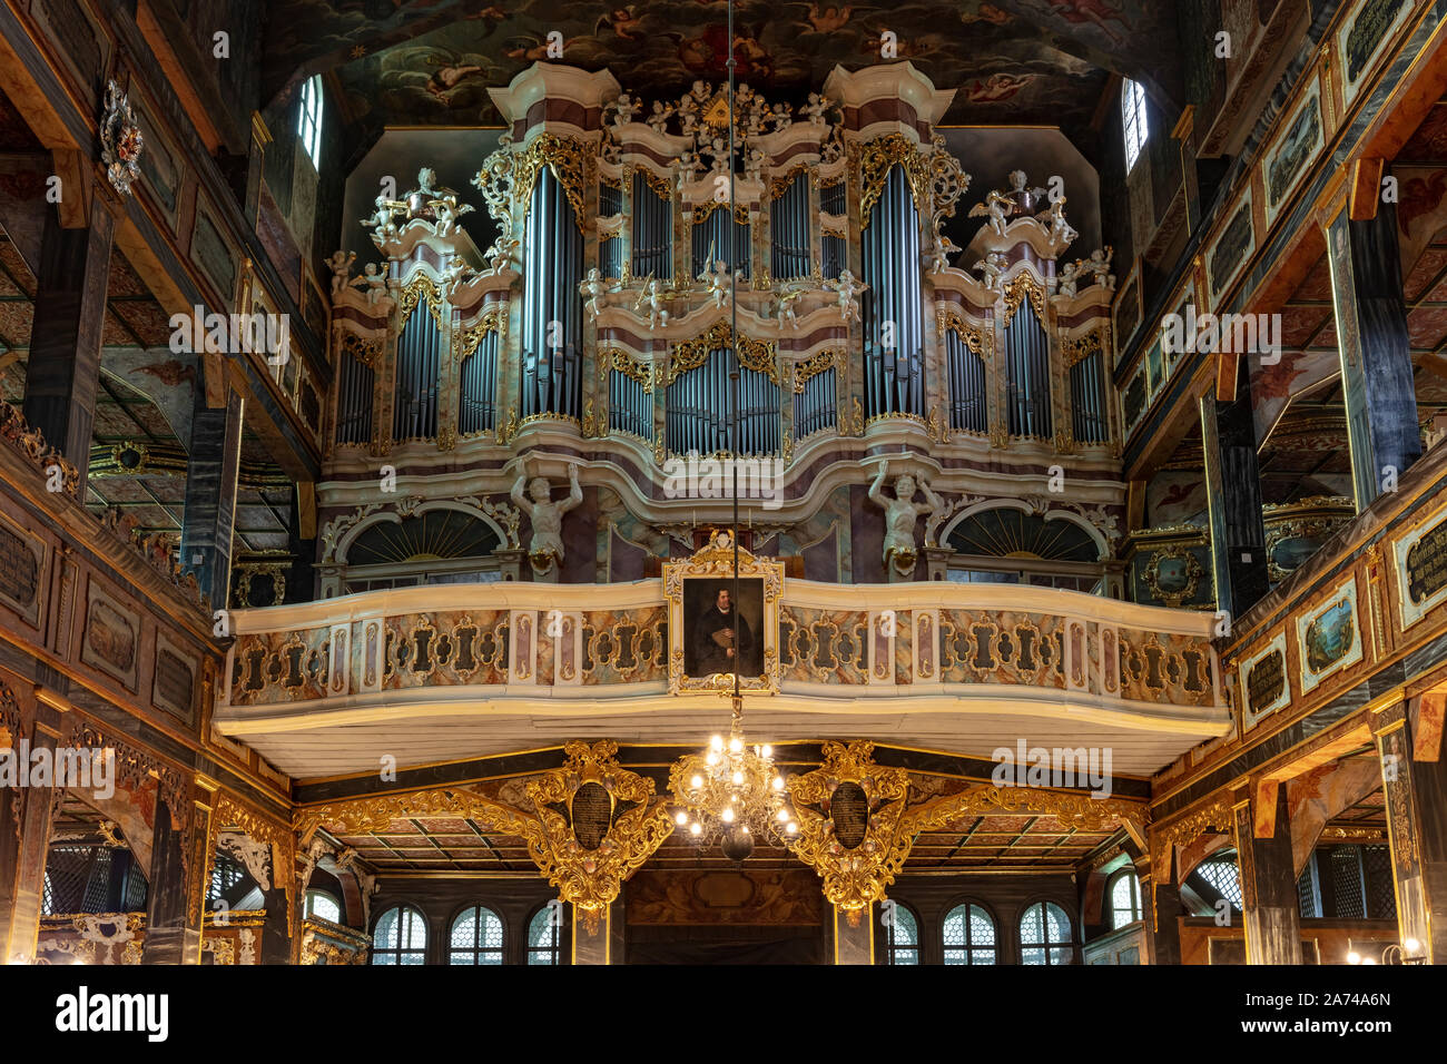
<instances>
[{"instance_id":1,"label":"dark pillar under right lower gallery, second from right edge","mask_svg":"<svg viewBox=\"0 0 1447 1064\"><path fill-rule=\"evenodd\" d=\"M1257 808L1249 796L1242 796L1231 808L1242 873L1246 963L1301 964L1301 902L1291 858L1286 788L1281 785L1272 790L1275 793L1266 799L1269 809Z\"/></svg>"}]
</instances>

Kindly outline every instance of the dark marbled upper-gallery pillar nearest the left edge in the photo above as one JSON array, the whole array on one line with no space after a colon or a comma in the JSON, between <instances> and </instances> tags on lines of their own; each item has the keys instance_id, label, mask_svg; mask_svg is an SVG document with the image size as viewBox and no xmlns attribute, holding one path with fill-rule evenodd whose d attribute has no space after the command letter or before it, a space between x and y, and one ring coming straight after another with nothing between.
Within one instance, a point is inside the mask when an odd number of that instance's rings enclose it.
<instances>
[{"instance_id":1,"label":"dark marbled upper-gallery pillar nearest the left edge","mask_svg":"<svg viewBox=\"0 0 1447 1064\"><path fill-rule=\"evenodd\" d=\"M30 358L25 371L25 420L80 469L82 485L96 421L100 339L116 226L100 195L91 197L85 217L90 220L85 227L65 229L56 211L46 211Z\"/></svg>"}]
</instances>

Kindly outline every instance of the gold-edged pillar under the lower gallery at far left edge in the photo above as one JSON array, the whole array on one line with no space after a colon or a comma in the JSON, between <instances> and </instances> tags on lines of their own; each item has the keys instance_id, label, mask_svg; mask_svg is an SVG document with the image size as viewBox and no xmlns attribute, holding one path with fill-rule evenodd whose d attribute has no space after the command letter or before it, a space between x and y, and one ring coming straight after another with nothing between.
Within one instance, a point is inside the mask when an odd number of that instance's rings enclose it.
<instances>
[{"instance_id":1,"label":"gold-edged pillar under the lower gallery at far left edge","mask_svg":"<svg viewBox=\"0 0 1447 1064\"><path fill-rule=\"evenodd\" d=\"M30 751L46 748L54 757L62 719L61 711L39 702L26 735ZM55 788L0 788L0 964L35 960L45 858L61 793Z\"/></svg>"}]
</instances>

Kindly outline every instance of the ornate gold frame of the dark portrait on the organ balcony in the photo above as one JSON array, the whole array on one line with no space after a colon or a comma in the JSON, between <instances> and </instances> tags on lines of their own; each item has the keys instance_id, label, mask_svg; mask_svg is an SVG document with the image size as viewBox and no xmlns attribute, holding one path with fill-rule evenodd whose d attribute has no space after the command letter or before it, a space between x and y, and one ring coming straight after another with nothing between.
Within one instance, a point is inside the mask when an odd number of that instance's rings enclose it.
<instances>
[{"instance_id":1,"label":"ornate gold frame of the dark portrait on the organ balcony","mask_svg":"<svg viewBox=\"0 0 1447 1064\"><path fill-rule=\"evenodd\" d=\"M689 636L695 617L703 605L699 591L728 589L734 579L734 541L728 530L715 528L709 541L689 559L663 566L663 596L669 602L669 693L712 691L728 693L734 689L732 672L690 672ZM757 640L758 675L741 675L739 691L778 693L778 602L784 591L784 563L755 557L738 549L738 579L741 586L739 614L750 627L748 643ZM693 586L690 586L693 585ZM754 636L757 633L757 636ZM751 672L751 670L750 670Z\"/></svg>"}]
</instances>

